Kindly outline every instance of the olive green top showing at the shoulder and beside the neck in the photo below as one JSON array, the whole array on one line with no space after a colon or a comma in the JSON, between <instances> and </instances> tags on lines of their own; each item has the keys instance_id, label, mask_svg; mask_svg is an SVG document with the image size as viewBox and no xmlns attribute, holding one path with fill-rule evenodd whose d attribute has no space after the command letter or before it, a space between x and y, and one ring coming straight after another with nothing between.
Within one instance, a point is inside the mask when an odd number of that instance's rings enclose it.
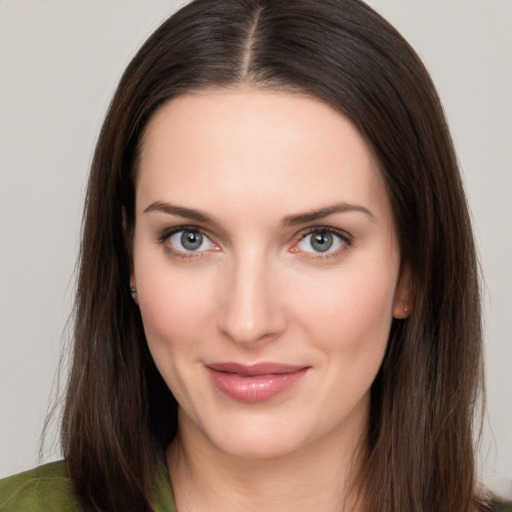
<instances>
[{"instance_id":1,"label":"olive green top showing at the shoulder and beside the neck","mask_svg":"<svg viewBox=\"0 0 512 512\"><path fill-rule=\"evenodd\" d=\"M165 466L158 471L154 512L176 512ZM73 512L81 506L73 493L64 462L52 462L0 480L0 512Z\"/></svg>"}]
</instances>

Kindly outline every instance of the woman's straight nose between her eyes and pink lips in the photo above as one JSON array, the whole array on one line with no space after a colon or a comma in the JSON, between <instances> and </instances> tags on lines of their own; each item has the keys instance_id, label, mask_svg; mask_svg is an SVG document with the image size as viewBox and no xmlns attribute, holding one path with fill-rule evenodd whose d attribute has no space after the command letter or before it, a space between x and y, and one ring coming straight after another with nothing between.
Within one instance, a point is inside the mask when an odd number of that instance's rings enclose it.
<instances>
[{"instance_id":1,"label":"woman's straight nose between her eyes and pink lips","mask_svg":"<svg viewBox=\"0 0 512 512\"><path fill-rule=\"evenodd\" d=\"M224 275L219 331L233 342L252 345L278 338L286 329L282 288L264 257L240 258Z\"/></svg>"}]
</instances>

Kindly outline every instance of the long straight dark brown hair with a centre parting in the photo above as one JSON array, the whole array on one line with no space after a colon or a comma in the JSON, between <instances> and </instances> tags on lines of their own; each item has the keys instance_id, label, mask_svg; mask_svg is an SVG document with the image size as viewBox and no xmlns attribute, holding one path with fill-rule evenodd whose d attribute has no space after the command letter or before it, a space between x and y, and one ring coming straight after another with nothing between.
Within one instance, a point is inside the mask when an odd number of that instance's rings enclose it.
<instances>
[{"instance_id":1,"label":"long straight dark brown hair with a centre parting","mask_svg":"<svg viewBox=\"0 0 512 512\"><path fill-rule=\"evenodd\" d=\"M394 320L372 387L356 479L364 510L475 510L482 346L463 186L427 71L360 0L196 0L126 69L87 191L62 424L84 507L149 510L156 468L177 428L176 401L149 355L129 290L141 135L164 102L243 82L301 91L352 120L380 164L412 270L414 310Z\"/></svg>"}]
</instances>

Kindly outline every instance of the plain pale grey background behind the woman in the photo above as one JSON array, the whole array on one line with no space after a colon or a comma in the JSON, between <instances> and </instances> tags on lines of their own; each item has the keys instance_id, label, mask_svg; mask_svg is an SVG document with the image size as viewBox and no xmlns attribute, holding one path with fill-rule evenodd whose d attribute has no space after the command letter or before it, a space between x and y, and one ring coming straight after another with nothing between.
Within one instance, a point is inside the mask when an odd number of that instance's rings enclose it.
<instances>
[{"instance_id":1,"label":"plain pale grey background behind the woman","mask_svg":"<svg viewBox=\"0 0 512 512\"><path fill-rule=\"evenodd\" d=\"M183 3L0 0L0 477L38 462L104 112L131 56ZM486 280L482 472L512 497L512 2L369 3L424 59L452 129ZM50 443L44 460L58 456Z\"/></svg>"}]
</instances>

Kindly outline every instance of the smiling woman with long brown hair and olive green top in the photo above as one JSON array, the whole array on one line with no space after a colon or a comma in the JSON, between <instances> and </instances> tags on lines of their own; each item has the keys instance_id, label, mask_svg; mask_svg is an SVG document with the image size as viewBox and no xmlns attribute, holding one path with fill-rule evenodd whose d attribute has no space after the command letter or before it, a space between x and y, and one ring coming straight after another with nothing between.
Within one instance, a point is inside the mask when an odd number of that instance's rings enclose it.
<instances>
[{"instance_id":1,"label":"smiling woman with long brown hair and olive green top","mask_svg":"<svg viewBox=\"0 0 512 512\"><path fill-rule=\"evenodd\" d=\"M479 304L439 100L396 31L357 0L192 2L98 141L65 465L0 510L490 510Z\"/></svg>"}]
</instances>

